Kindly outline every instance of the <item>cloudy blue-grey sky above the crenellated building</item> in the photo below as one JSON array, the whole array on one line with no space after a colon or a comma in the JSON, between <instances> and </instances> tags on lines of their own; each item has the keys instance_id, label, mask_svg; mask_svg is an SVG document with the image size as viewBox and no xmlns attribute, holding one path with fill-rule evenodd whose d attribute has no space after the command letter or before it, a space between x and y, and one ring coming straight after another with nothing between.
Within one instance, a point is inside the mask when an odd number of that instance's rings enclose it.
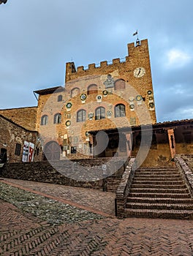
<instances>
[{"instance_id":1,"label":"cloudy blue-grey sky above the crenellated building","mask_svg":"<svg viewBox=\"0 0 193 256\"><path fill-rule=\"evenodd\" d=\"M0 5L0 109L37 105L76 67L148 39L157 121L193 118L192 0L8 0Z\"/></svg>"}]
</instances>

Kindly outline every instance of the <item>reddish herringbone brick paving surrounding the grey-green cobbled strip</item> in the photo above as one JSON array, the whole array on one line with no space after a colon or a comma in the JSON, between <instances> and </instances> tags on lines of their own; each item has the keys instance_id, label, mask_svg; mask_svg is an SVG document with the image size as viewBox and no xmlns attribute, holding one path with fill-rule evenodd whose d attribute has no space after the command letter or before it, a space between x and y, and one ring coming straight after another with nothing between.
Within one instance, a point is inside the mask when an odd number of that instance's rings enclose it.
<instances>
[{"instance_id":1,"label":"reddish herringbone brick paving surrounding the grey-green cobbled strip","mask_svg":"<svg viewBox=\"0 0 193 256\"><path fill-rule=\"evenodd\" d=\"M6 181L14 185L13 181L8 179ZM4 180L1 181L3 182ZM24 181L17 182L20 183L18 184L20 187L26 186ZM41 196L34 194L35 200L39 200L43 195L49 198L46 187L50 187L50 184L42 184L42 186L35 182L33 184L42 192ZM55 199L58 198L60 203L62 198L71 200L64 195L58 196L64 192L64 186L51 185L53 186L51 194ZM55 186L56 189L54 189ZM60 188L63 192L60 192ZM25 190L20 189L20 191L25 194L29 189L30 187L26 186ZM74 189L76 191L78 188L68 187L68 189L72 189L73 194ZM92 191L97 198L95 207L94 200L91 200L88 206L84 206L88 211L98 207L101 200L103 206L99 210L104 210L104 214L101 213L102 219L80 220L74 223L67 223L64 220L59 225L53 225L34 214L23 211L22 208L13 206L14 201L8 203L0 200L0 255L193 255L192 220L110 218L107 217L108 205L106 210L104 206L106 192L92 189L86 189L83 192L83 190L80 189L81 197L84 193L86 196L88 191L91 197ZM51 188L48 191L51 192ZM113 193L111 194L114 197ZM78 202L74 200L73 203L78 206L81 200L79 199Z\"/></svg>"}]
</instances>

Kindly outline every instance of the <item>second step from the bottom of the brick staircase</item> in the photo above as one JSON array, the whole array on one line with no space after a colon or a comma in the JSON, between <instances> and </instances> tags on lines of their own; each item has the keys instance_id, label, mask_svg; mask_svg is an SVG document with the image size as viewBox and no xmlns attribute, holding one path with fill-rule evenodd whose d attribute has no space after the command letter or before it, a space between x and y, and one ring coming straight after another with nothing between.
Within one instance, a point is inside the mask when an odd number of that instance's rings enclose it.
<instances>
[{"instance_id":1,"label":"second step from the bottom of the brick staircase","mask_svg":"<svg viewBox=\"0 0 193 256\"><path fill-rule=\"evenodd\" d=\"M126 203L126 208L161 209L161 210L193 210L193 203Z\"/></svg>"}]
</instances>

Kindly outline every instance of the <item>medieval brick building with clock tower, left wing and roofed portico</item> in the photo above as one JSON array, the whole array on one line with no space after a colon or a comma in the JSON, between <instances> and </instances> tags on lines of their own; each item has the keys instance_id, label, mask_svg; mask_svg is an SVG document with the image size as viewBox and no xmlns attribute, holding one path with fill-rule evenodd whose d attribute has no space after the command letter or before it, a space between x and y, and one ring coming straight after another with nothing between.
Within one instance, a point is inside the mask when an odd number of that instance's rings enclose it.
<instances>
[{"instance_id":1,"label":"medieval brick building with clock tower, left wing and roofed portico","mask_svg":"<svg viewBox=\"0 0 193 256\"><path fill-rule=\"evenodd\" d=\"M138 154L141 164L158 165L175 153L192 153L192 120L156 123L148 40L127 46L124 60L87 68L67 63L64 87L34 91L37 107L1 115L38 132L34 147L43 148L42 159Z\"/></svg>"}]
</instances>

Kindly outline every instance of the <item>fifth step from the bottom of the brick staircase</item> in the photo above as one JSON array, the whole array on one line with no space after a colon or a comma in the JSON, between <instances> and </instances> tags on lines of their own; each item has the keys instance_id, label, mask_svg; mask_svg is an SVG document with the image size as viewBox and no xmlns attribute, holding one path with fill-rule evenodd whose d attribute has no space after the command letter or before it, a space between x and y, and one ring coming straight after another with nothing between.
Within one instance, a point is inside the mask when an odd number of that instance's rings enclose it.
<instances>
[{"instance_id":1,"label":"fifth step from the bottom of the brick staircase","mask_svg":"<svg viewBox=\"0 0 193 256\"><path fill-rule=\"evenodd\" d=\"M141 189L141 188L132 188L130 189L130 192L131 193L154 193L154 194L157 194L157 193L174 193L174 194L182 194L182 193L188 193L189 190L188 189L170 189L170 188L167 188L167 189L151 189L151 188L144 188L144 189Z\"/></svg>"}]
</instances>

